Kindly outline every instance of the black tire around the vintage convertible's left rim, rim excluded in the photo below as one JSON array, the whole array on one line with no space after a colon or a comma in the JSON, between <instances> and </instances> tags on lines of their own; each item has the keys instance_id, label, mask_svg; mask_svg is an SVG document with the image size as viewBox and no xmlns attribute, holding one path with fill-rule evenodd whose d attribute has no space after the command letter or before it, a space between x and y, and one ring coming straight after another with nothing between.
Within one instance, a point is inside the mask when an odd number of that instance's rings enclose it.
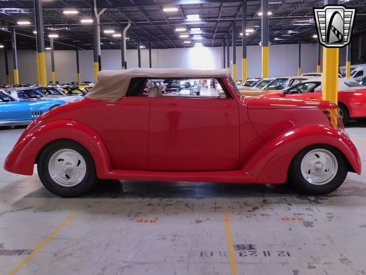
<instances>
[{"instance_id":1,"label":"black tire around the vintage convertible's left rim, rim excluded","mask_svg":"<svg viewBox=\"0 0 366 275\"><path fill-rule=\"evenodd\" d=\"M57 184L49 174L48 163L52 155L61 149L74 150L84 158L86 164L86 174L80 183L76 184L75 186L61 186ZM37 170L38 176L40 177L44 187L46 187L46 189L51 193L64 198L78 197L86 193L94 186L97 180L94 160L93 157L91 157L89 151L87 151L86 148L81 144L68 139L57 140L46 145L38 155Z\"/></svg>"}]
</instances>

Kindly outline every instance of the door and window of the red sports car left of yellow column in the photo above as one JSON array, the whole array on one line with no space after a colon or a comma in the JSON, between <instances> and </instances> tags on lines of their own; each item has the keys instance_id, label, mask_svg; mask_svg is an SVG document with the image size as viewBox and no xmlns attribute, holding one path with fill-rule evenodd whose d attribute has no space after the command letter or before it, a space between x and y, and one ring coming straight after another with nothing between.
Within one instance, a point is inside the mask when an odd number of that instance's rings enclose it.
<instances>
[{"instance_id":1,"label":"door and window of the red sports car left of yellow column","mask_svg":"<svg viewBox=\"0 0 366 275\"><path fill-rule=\"evenodd\" d=\"M291 98L318 99L319 94L321 96L320 81L299 83L285 91L285 97Z\"/></svg>"}]
</instances>

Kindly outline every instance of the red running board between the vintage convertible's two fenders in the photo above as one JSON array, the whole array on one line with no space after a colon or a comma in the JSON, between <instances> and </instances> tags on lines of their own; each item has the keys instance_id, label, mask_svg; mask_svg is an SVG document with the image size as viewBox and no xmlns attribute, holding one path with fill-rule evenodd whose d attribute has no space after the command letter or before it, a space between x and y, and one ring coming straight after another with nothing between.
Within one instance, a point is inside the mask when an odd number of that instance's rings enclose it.
<instances>
[{"instance_id":1,"label":"red running board between the vintage convertible's two fenders","mask_svg":"<svg viewBox=\"0 0 366 275\"><path fill-rule=\"evenodd\" d=\"M187 181L217 183L257 183L257 177L240 170L218 171L157 171L110 170L108 179L142 181Z\"/></svg>"}]
</instances>

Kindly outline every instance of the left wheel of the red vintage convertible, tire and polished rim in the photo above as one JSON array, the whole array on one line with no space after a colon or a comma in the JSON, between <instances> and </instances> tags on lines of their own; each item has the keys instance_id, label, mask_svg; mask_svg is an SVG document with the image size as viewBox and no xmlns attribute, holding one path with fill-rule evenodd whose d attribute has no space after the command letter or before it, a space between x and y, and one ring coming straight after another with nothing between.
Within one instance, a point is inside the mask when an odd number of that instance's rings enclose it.
<instances>
[{"instance_id":1,"label":"left wheel of the red vintage convertible, tire and polished rim","mask_svg":"<svg viewBox=\"0 0 366 275\"><path fill-rule=\"evenodd\" d=\"M78 197L97 180L93 157L72 140L48 144L38 156L37 164L44 187L60 197Z\"/></svg>"}]
</instances>

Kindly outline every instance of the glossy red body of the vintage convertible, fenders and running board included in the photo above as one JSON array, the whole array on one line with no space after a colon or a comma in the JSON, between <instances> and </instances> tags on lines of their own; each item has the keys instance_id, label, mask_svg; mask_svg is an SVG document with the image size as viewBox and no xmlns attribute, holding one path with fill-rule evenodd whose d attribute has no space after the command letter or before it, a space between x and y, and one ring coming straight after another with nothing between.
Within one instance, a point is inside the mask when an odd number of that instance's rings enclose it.
<instances>
[{"instance_id":1,"label":"glossy red body of the vintage convertible, fenders and running board included","mask_svg":"<svg viewBox=\"0 0 366 275\"><path fill-rule=\"evenodd\" d=\"M228 78L219 82L232 99L85 98L63 104L26 128L4 168L31 175L42 147L71 139L90 152L101 179L284 183L294 155L316 143L339 148L351 170L361 173L354 144L320 110L335 104L247 101ZM300 111L310 125L299 118Z\"/></svg>"}]
</instances>

